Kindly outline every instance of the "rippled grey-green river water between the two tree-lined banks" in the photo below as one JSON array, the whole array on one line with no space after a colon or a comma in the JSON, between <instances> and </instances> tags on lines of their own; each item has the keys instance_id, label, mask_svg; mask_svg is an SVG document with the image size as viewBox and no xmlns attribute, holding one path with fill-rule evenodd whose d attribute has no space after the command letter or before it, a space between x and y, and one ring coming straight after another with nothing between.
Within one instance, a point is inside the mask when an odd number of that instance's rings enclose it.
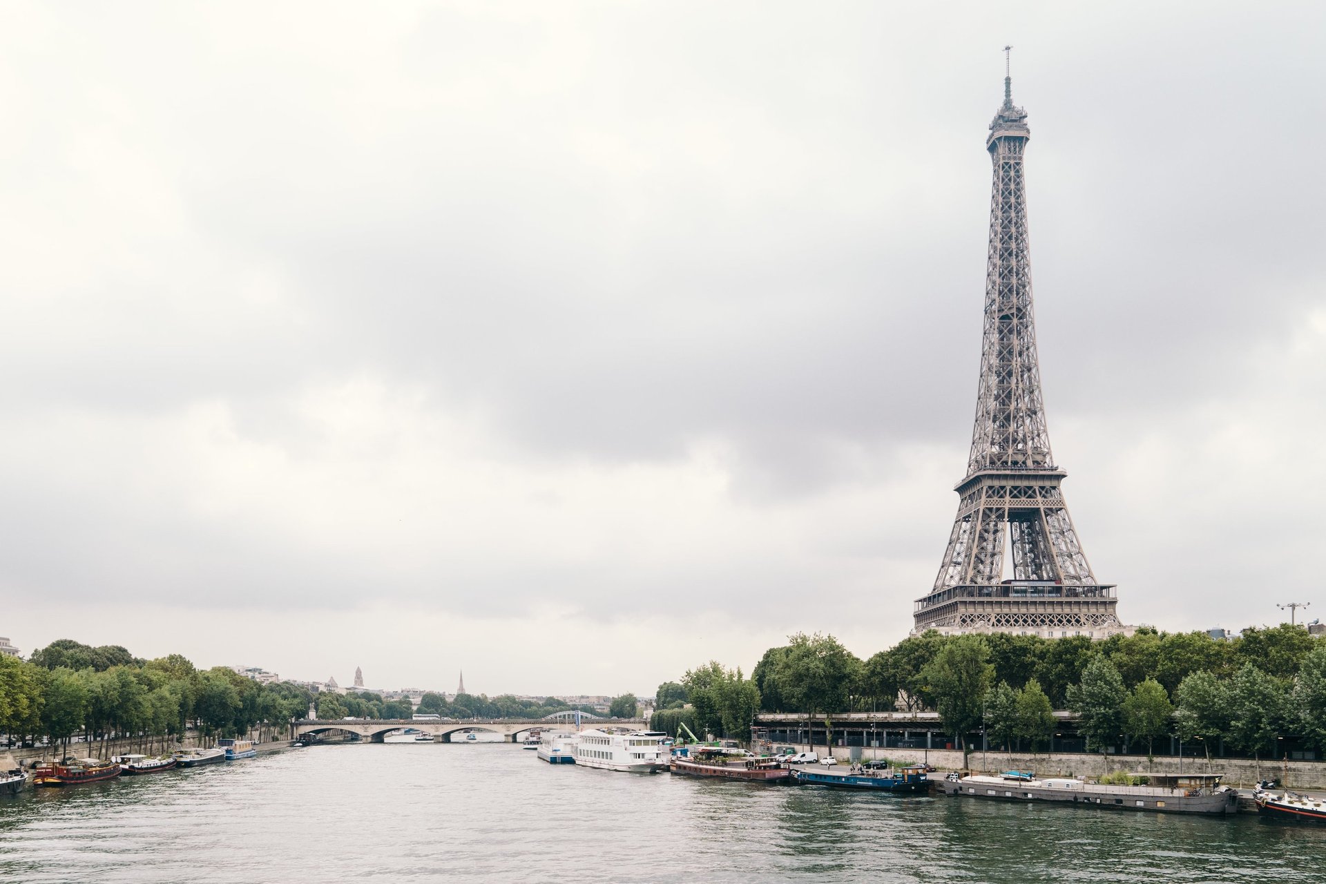
<instances>
[{"instance_id":1,"label":"rippled grey-green river water between the two tree-lined banks","mask_svg":"<svg viewBox=\"0 0 1326 884\"><path fill-rule=\"evenodd\" d=\"M1326 830L339 745L0 801L0 881L1322 881Z\"/></svg>"}]
</instances>

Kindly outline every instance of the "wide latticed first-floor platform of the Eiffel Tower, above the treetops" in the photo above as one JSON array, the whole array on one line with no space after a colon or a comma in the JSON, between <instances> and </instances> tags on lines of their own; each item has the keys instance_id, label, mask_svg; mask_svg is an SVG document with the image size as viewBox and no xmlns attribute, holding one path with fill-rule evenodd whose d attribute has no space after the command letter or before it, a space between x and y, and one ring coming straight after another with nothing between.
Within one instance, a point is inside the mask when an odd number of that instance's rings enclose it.
<instances>
[{"instance_id":1,"label":"wide latticed first-floor platform of the Eiffel Tower, above the treetops","mask_svg":"<svg viewBox=\"0 0 1326 884\"><path fill-rule=\"evenodd\" d=\"M916 600L912 635L937 630L947 635L1009 632L1066 639L1131 635L1119 623L1113 584L1062 586L1049 580L1005 580L936 590Z\"/></svg>"}]
</instances>

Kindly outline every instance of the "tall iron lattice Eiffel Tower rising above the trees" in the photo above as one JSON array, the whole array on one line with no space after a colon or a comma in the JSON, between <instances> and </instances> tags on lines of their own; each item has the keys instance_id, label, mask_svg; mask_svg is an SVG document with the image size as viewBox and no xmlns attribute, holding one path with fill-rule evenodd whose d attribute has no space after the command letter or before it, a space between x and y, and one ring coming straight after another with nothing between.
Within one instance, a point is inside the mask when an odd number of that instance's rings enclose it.
<instances>
[{"instance_id":1,"label":"tall iron lattice Eiffel Tower rising above the trees","mask_svg":"<svg viewBox=\"0 0 1326 884\"><path fill-rule=\"evenodd\" d=\"M937 628L1101 639L1126 631L1115 615L1115 587L1097 582L1087 565L1059 490L1066 473L1050 453L1022 178L1030 137L1005 68L1004 103L985 140L994 186L972 453L967 478L955 488L957 517L935 587L916 600L914 634ZM1005 538L1012 579L1001 579Z\"/></svg>"}]
</instances>

